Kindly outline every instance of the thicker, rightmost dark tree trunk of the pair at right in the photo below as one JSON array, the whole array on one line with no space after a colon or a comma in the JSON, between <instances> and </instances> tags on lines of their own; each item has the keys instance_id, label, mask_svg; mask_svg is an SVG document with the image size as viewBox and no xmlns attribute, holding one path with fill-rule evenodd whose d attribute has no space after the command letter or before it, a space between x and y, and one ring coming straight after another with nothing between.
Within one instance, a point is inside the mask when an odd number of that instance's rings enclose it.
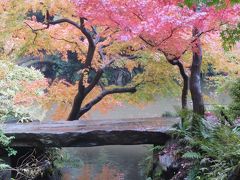
<instances>
[{"instance_id":1,"label":"thicker, rightmost dark tree trunk of the pair at right","mask_svg":"<svg viewBox=\"0 0 240 180\"><path fill-rule=\"evenodd\" d=\"M198 34L198 30L193 30L193 36ZM191 77L190 77L190 91L193 102L193 112L203 116L204 115L204 102L201 90L201 65L202 65L202 49L201 42L198 38L193 47L193 60L191 66Z\"/></svg>"}]
</instances>

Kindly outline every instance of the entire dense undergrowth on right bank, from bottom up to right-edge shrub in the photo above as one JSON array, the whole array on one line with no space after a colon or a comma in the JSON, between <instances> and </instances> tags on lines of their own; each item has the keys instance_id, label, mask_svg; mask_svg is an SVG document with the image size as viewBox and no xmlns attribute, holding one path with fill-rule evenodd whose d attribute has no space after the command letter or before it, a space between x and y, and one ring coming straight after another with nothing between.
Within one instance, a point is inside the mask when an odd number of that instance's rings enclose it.
<instances>
[{"instance_id":1,"label":"entire dense undergrowth on right bank, from bottom up to right-edge shrub","mask_svg":"<svg viewBox=\"0 0 240 180\"><path fill-rule=\"evenodd\" d=\"M198 117L198 126L191 126L196 118L191 111L180 113L184 122L159 152L160 159L172 159L171 165L161 165L153 179L240 179L240 80L233 83L230 95L229 106L218 106L212 117Z\"/></svg>"}]
</instances>

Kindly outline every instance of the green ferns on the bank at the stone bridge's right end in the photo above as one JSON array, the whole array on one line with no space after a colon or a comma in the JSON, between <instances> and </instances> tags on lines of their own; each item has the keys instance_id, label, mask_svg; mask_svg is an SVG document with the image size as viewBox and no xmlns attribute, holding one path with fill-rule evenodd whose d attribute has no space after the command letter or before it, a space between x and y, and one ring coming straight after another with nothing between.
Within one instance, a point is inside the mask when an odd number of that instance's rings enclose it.
<instances>
[{"instance_id":1,"label":"green ferns on the bank at the stone bridge's right end","mask_svg":"<svg viewBox=\"0 0 240 180\"><path fill-rule=\"evenodd\" d=\"M186 122L175 133L185 147L181 157L195 164L188 172L188 179L227 179L240 162L240 127L200 119L198 128L191 133L191 123L187 122L191 121L193 113L182 114Z\"/></svg>"}]
</instances>

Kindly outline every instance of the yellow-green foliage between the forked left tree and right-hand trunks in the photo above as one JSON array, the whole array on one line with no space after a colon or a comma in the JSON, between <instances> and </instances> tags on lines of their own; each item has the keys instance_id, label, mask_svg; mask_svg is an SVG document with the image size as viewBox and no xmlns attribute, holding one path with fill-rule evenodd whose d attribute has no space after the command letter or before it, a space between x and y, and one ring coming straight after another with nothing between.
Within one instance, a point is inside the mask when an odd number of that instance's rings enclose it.
<instances>
[{"instance_id":1,"label":"yellow-green foliage between the forked left tree and right-hand trunks","mask_svg":"<svg viewBox=\"0 0 240 180\"><path fill-rule=\"evenodd\" d=\"M182 79L177 67L172 66L159 53L142 52L137 60L144 71L134 76L132 83L139 84L137 92L131 96L117 95L133 104L155 100L156 96L177 96L180 94Z\"/></svg>"}]
</instances>

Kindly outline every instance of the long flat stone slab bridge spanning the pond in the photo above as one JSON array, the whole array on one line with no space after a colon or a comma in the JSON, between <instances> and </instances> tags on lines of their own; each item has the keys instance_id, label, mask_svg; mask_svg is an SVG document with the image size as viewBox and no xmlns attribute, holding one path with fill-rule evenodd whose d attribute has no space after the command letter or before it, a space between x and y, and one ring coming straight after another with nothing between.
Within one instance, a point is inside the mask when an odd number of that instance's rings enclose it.
<instances>
[{"instance_id":1,"label":"long flat stone slab bridge spanning the pond","mask_svg":"<svg viewBox=\"0 0 240 180\"><path fill-rule=\"evenodd\" d=\"M165 144L174 121L146 118L113 121L49 121L6 124L15 147L87 147L99 145Z\"/></svg>"}]
</instances>

